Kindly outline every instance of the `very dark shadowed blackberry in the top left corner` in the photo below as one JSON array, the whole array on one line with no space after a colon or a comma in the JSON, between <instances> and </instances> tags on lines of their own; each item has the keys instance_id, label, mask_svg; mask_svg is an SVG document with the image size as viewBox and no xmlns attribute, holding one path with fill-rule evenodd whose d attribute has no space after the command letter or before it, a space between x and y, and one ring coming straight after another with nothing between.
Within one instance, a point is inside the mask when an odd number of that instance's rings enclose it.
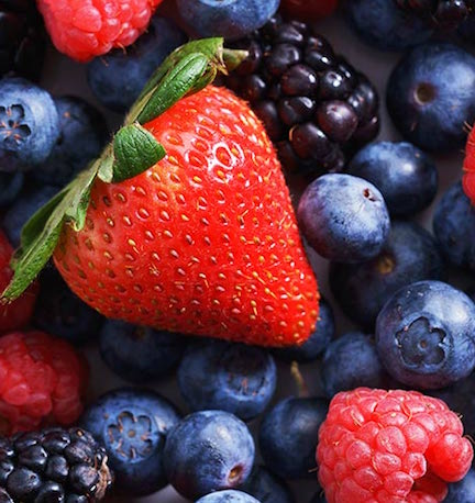
<instances>
[{"instance_id":1,"label":"very dark shadowed blackberry in the top left corner","mask_svg":"<svg viewBox=\"0 0 475 503\"><path fill-rule=\"evenodd\" d=\"M46 36L32 0L0 0L0 78L10 71L38 80Z\"/></svg>"}]
</instances>

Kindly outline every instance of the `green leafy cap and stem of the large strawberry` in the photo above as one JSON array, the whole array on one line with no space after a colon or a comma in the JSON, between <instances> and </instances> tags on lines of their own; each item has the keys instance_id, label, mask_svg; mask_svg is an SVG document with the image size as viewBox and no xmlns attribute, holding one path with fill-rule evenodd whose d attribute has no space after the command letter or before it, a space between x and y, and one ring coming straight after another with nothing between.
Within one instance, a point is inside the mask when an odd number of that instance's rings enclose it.
<instances>
[{"instance_id":1,"label":"green leafy cap and stem of the large strawberry","mask_svg":"<svg viewBox=\"0 0 475 503\"><path fill-rule=\"evenodd\" d=\"M11 262L14 275L1 295L2 302L14 301L35 280L52 257L66 223L75 231L84 227L96 179L121 182L165 157L165 148L142 124L211 83L219 71L235 68L245 57L243 51L224 49L222 38L205 38L178 47L165 59L101 156L24 225L21 246Z\"/></svg>"}]
</instances>

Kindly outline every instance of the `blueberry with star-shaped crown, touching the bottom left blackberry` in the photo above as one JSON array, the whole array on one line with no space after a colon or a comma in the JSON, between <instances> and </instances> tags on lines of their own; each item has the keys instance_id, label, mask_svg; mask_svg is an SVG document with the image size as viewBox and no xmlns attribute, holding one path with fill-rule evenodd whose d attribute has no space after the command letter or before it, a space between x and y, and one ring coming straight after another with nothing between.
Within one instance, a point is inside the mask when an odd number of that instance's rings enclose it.
<instances>
[{"instance_id":1,"label":"blueberry with star-shaped crown, touching the bottom left blackberry","mask_svg":"<svg viewBox=\"0 0 475 503\"><path fill-rule=\"evenodd\" d=\"M134 388L106 393L86 411L81 424L106 448L118 488L140 496L167 484L165 439L179 418L168 400Z\"/></svg>"}]
</instances>

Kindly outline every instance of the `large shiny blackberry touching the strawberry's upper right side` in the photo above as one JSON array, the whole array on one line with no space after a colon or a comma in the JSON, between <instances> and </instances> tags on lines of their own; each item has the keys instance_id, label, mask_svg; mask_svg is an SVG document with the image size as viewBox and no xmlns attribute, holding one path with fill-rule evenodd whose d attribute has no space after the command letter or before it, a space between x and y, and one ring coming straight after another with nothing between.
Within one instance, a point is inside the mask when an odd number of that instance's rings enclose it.
<instances>
[{"instance_id":1,"label":"large shiny blackberry touching the strawberry's upper right side","mask_svg":"<svg viewBox=\"0 0 475 503\"><path fill-rule=\"evenodd\" d=\"M312 25L275 16L232 46L248 56L225 83L264 122L287 171L339 171L377 135L375 88Z\"/></svg>"}]
</instances>

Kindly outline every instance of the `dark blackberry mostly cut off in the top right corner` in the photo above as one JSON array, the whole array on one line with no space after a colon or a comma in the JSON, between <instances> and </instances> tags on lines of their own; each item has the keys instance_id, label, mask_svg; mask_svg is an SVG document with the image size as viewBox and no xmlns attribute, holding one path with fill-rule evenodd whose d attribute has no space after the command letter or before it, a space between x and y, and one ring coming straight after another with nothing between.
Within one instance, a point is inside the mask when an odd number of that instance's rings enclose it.
<instances>
[{"instance_id":1,"label":"dark blackberry mostly cut off in the top right corner","mask_svg":"<svg viewBox=\"0 0 475 503\"><path fill-rule=\"evenodd\" d=\"M475 0L395 0L402 9L427 19L441 30L455 30L471 14Z\"/></svg>"}]
</instances>

